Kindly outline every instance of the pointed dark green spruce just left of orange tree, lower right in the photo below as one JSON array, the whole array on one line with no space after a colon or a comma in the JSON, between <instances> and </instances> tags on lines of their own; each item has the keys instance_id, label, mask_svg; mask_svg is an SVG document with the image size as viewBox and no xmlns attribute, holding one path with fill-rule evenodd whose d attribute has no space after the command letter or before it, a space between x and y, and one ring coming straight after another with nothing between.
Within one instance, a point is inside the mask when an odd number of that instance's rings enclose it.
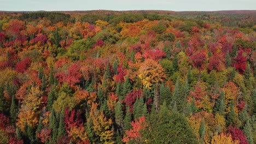
<instances>
[{"instance_id":1,"label":"pointed dark green spruce just left of orange tree, lower right","mask_svg":"<svg viewBox=\"0 0 256 144\"><path fill-rule=\"evenodd\" d=\"M225 96L224 95L225 95L224 91L222 91L213 108L214 113L219 113L222 116L225 116Z\"/></svg>"}]
</instances>

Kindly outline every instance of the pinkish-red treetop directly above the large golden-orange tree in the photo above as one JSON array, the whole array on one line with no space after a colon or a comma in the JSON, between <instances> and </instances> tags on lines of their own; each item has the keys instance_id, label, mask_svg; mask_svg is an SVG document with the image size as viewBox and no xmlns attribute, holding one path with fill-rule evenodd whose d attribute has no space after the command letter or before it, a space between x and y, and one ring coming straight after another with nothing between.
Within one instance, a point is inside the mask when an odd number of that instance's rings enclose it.
<instances>
[{"instance_id":1,"label":"pinkish-red treetop directly above the large golden-orange tree","mask_svg":"<svg viewBox=\"0 0 256 144\"><path fill-rule=\"evenodd\" d=\"M165 57L165 52L161 51L159 48L155 48L155 50L146 50L142 55L145 59L150 58L155 61L159 61L162 57Z\"/></svg>"}]
</instances>

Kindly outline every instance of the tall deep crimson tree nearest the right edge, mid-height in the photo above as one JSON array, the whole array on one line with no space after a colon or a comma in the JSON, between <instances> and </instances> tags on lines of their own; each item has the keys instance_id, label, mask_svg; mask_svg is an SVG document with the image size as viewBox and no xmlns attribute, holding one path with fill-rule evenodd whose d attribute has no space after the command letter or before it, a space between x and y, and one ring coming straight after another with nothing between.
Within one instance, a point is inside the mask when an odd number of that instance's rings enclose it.
<instances>
[{"instance_id":1,"label":"tall deep crimson tree nearest the right edge, mid-height","mask_svg":"<svg viewBox=\"0 0 256 144\"><path fill-rule=\"evenodd\" d=\"M240 74L245 73L246 70L246 56L243 56L243 52L245 52L245 50L240 49L238 51L237 57L234 58L235 63L233 63Z\"/></svg>"}]
</instances>

